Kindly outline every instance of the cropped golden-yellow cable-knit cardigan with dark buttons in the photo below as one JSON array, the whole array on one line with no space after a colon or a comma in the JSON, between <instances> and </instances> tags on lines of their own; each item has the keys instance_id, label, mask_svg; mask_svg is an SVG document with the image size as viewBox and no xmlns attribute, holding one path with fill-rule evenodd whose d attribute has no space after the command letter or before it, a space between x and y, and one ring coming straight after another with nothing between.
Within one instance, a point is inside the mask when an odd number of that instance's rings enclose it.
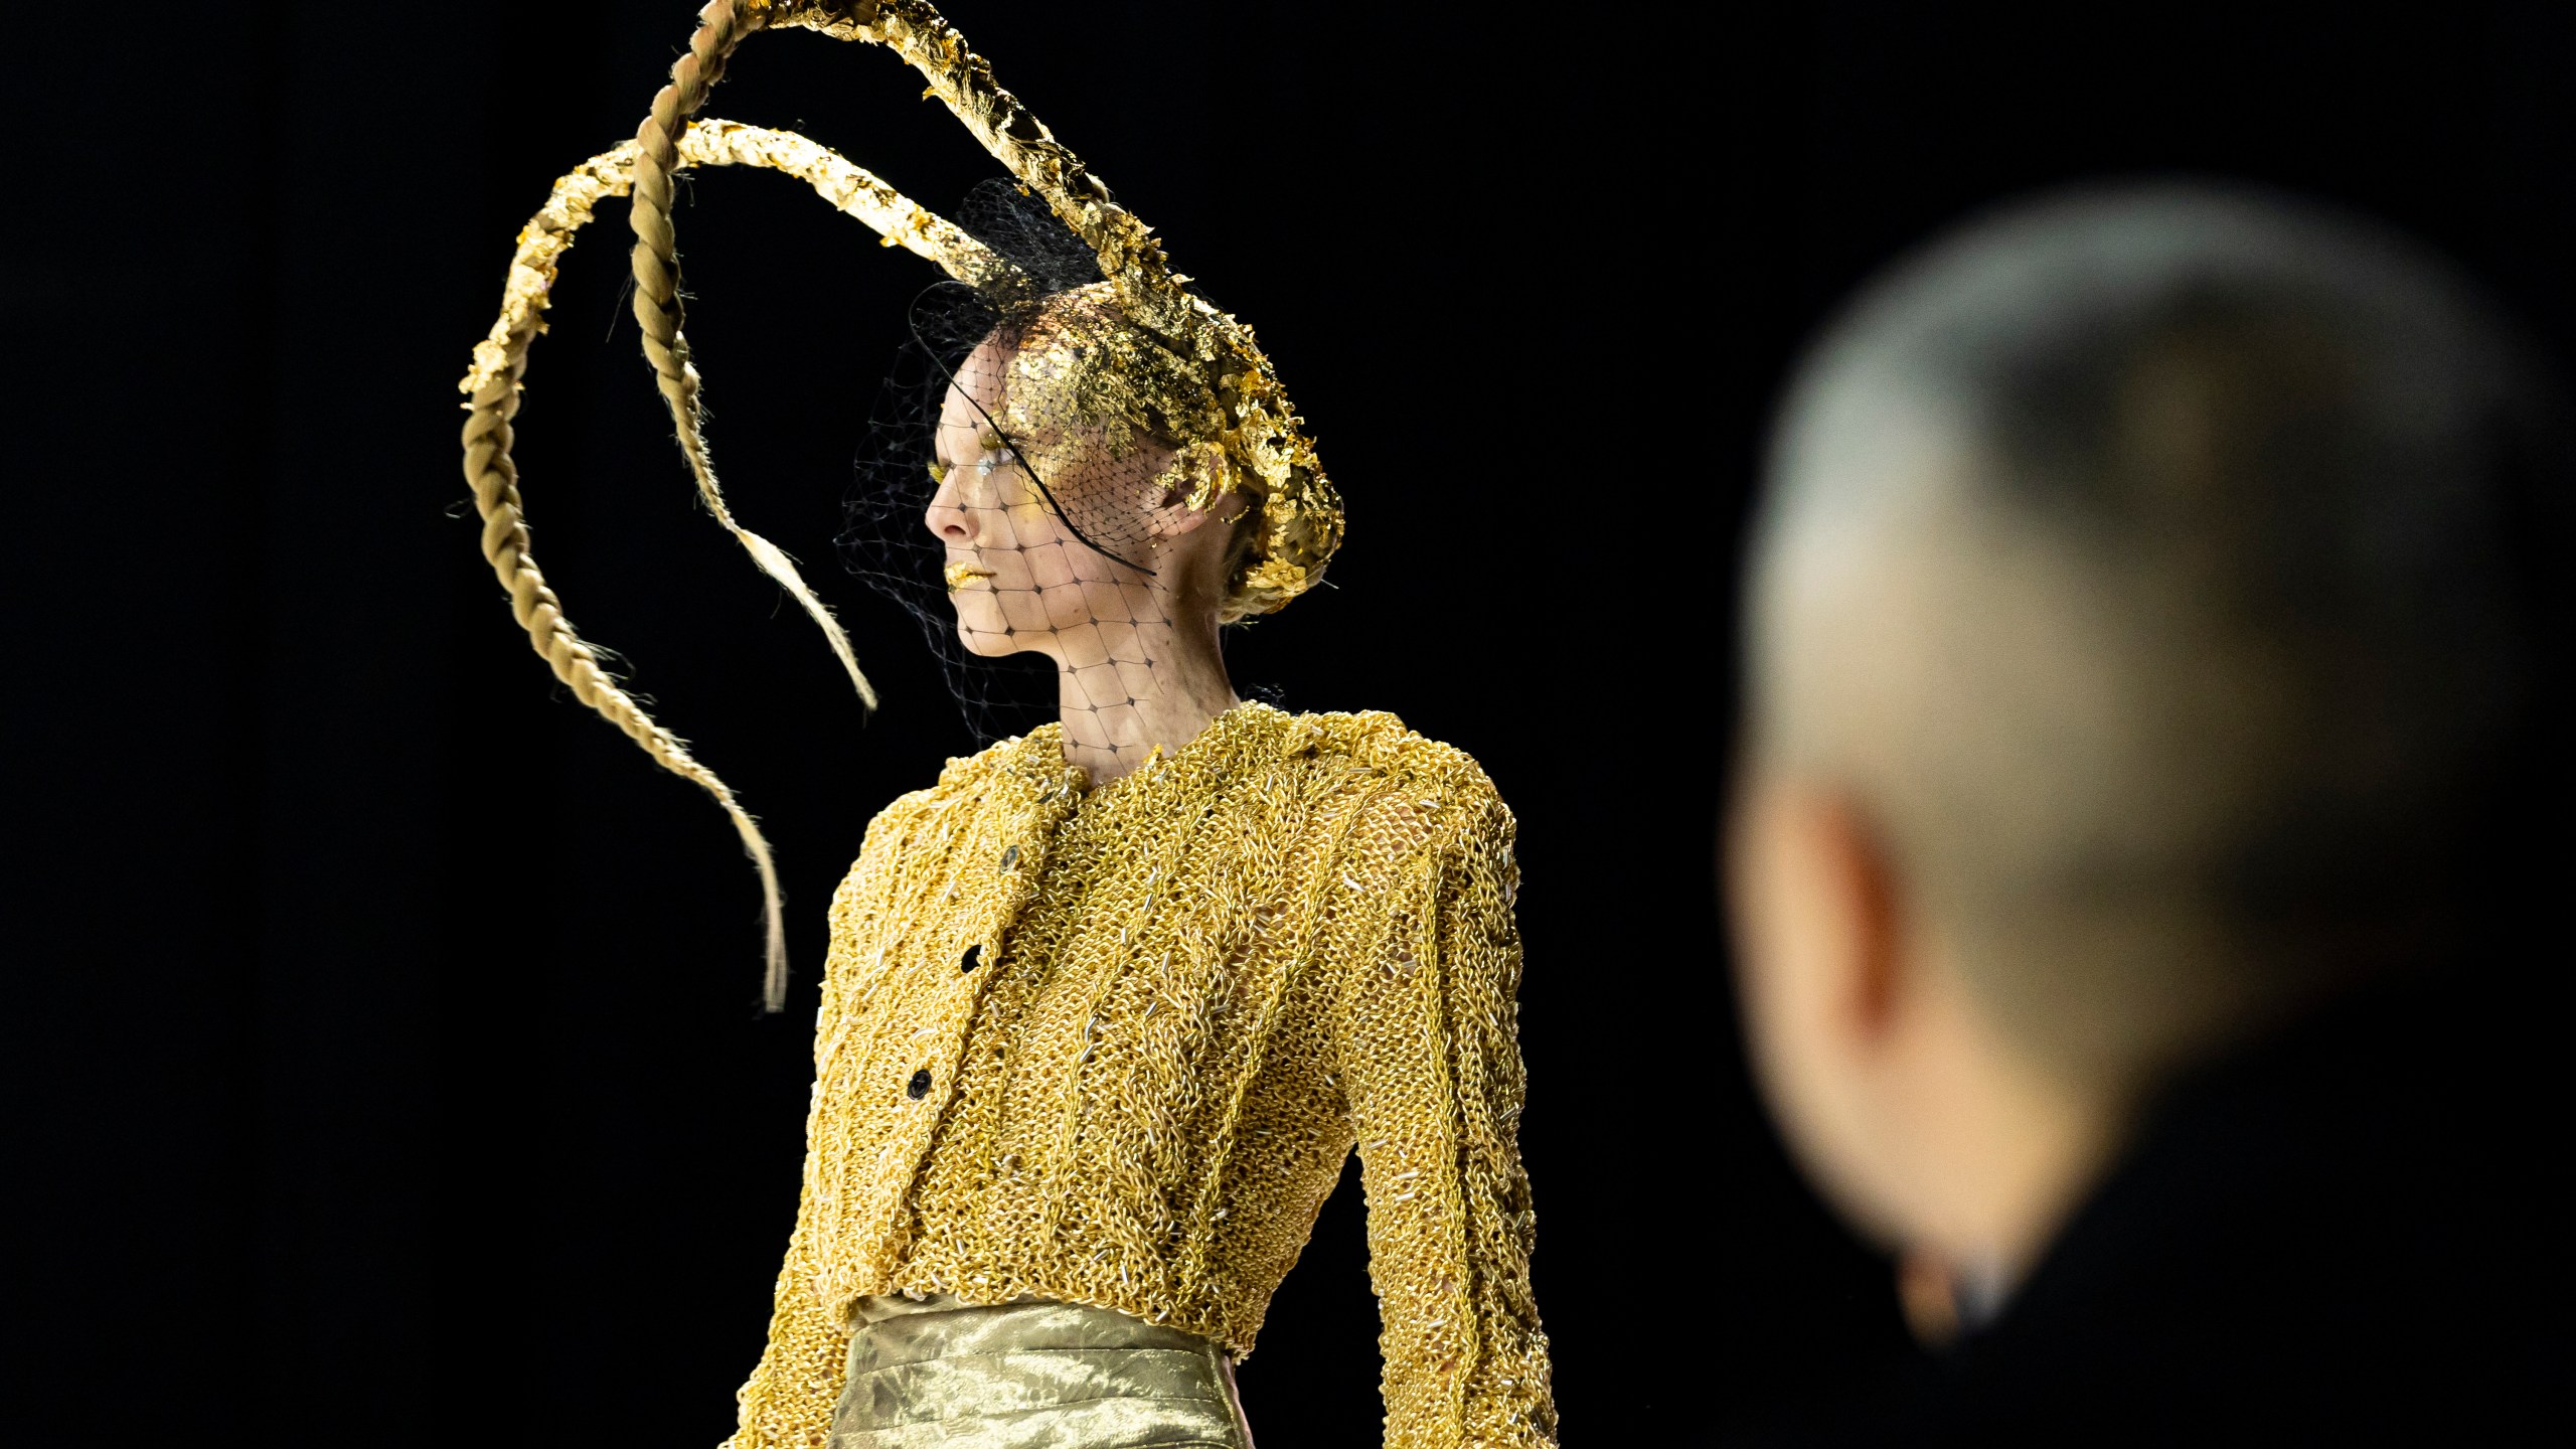
<instances>
[{"instance_id":1,"label":"cropped golden-yellow cable-knit cardigan with dark buttons","mask_svg":"<svg viewBox=\"0 0 2576 1449\"><path fill-rule=\"evenodd\" d=\"M860 1294L1087 1302L1249 1354L1352 1145L1386 1444L1556 1444L1492 781L1391 714L1242 704L1082 784L1048 724L868 825L729 1444L824 1444Z\"/></svg>"}]
</instances>

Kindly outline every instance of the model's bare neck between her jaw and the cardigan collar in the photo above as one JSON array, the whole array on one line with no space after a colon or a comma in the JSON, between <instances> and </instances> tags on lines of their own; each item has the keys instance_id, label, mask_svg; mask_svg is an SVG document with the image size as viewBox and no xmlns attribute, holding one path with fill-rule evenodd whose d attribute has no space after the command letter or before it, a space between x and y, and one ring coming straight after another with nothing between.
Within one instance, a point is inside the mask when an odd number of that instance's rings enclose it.
<instances>
[{"instance_id":1,"label":"model's bare neck between her jaw and the cardigan collar","mask_svg":"<svg viewBox=\"0 0 2576 1449\"><path fill-rule=\"evenodd\" d=\"M1141 624L1105 639L1103 652L1097 663L1056 660L1064 763L1079 766L1095 789L1154 748L1180 750L1236 704L1213 616L1206 629Z\"/></svg>"}]
</instances>

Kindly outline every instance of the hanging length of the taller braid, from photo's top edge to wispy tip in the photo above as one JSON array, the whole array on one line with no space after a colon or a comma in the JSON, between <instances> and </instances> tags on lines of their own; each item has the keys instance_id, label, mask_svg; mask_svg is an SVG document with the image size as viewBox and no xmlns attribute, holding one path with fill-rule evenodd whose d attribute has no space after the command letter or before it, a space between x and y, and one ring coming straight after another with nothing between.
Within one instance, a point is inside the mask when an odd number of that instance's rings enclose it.
<instances>
[{"instance_id":1,"label":"hanging length of the taller braid, from photo's top edge to wispy tip","mask_svg":"<svg viewBox=\"0 0 2576 1449\"><path fill-rule=\"evenodd\" d=\"M716 485L716 464L706 451L703 384L688 358L688 335L680 330L685 320L680 253L670 224L672 173L680 168L680 134L688 129L688 119L698 113L698 106L706 103L706 93L724 77L724 59L734 54L742 36L757 28L760 18L742 13L734 0L711 0L698 10L698 34L688 39L688 54L672 62L670 85L654 93L652 111L636 126L634 199L626 209L626 222L636 235L634 253L629 255L636 278L634 315L636 327L644 333L644 361L652 364L654 382L662 387L662 402L670 405L670 420L680 436L680 456L688 459L688 472L698 480L698 498L706 503L706 511L752 554L760 572L778 580L788 590L788 598L814 619L824 642L832 645L840 668L850 673L858 699L868 709L876 709L876 686L860 673L850 637L840 629L832 611L814 598L814 590L806 588L804 575L796 572L796 559L778 544L737 523L734 511L726 508L724 490Z\"/></svg>"}]
</instances>

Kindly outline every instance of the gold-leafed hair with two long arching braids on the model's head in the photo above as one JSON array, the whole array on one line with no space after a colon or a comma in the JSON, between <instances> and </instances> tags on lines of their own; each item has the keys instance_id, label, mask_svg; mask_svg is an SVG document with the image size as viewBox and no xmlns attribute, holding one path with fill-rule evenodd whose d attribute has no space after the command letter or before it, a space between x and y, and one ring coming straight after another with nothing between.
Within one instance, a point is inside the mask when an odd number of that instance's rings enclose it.
<instances>
[{"instance_id":1,"label":"gold-leafed hair with two long arching braids on the model's head","mask_svg":"<svg viewBox=\"0 0 2576 1449\"><path fill-rule=\"evenodd\" d=\"M520 232L502 291L502 315L489 338L474 348L474 366L461 384L469 413L464 464L484 521L484 557L502 588L510 590L528 642L574 699L618 724L657 763L714 794L760 866L768 923L762 998L770 1011L778 1011L786 998L786 933L768 841L732 789L701 766L677 735L654 722L605 673L600 655L574 634L562 601L528 552L518 467L510 462L510 423L520 405L520 379L528 348L544 330L556 266L600 199L631 193L634 315L698 492L716 521L822 627L860 699L868 706L876 704L876 691L860 673L840 624L775 544L734 521L716 485L698 405L698 369L690 366L688 338L680 327L680 266L670 222L672 175L683 165L786 170L876 229L884 245L912 250L969 286L1010 289L1018 273L963 229L806 137L734 121L693 124L690 116L706 103L706 93L721 77L734 46L760 28L809 28L837 39L873 41L899 54L930 83L927 95L945 103L984 150L1020 186L1043 199L1100 258L1103 286L1115 294L1115 317L1131 333L1131 351L1151 353L1157 364L1126 384L1154 392L1144 405L1177 433L1172 441L1180 456L1198 459L1198 477L1213 482L1213 487L1200 487L1190 503L1203 508L1216 492L1236 487L1255 495L1249 559L1231 583L1224 606L1229 619L1267 614L1314 588L1342 541L1342 505L1316 464L1314 443L1306 438L1296 407L1255 345L1252 330L1182 286L1188 278L1170 271L1151 227L1118 206L1108 186L1087 173L1074 152L1056 142L1054 131L1030 116L1010 90L994 83L992 67L966 49L966 39L935 8L922 0L711 0L698 13L688 54L672 64L670 85L654 95L652 113L636 129L636 139L590 157L556 180L546 206ZM1211 467L1211 454L1221 456L1226 467Z\"/></svg>"}]
</instances>

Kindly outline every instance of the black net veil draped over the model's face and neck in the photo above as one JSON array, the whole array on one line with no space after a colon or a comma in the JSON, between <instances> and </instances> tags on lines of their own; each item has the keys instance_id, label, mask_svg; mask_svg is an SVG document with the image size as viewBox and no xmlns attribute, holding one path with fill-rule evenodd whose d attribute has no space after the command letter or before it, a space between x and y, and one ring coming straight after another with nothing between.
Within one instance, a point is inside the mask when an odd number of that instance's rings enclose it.
<instances>
[{"instance_id":1,"label":"black net veil draped over the model's face and neck","mask_svg":"<svg viewBox=\"0 0 2576 1449\"><path fill-rule=\"evenodd\" d=\"M914 302L842 549L922 621L979 743L1061 714L1069 753L1123 761L1159 712L1234 704L1216 621L1249 487L1216 443L1175 441L1164 407L1208 392L1195 369L1015 201L979 188L963 217L1028 281Z\"/></svg>"}]
</instances>

